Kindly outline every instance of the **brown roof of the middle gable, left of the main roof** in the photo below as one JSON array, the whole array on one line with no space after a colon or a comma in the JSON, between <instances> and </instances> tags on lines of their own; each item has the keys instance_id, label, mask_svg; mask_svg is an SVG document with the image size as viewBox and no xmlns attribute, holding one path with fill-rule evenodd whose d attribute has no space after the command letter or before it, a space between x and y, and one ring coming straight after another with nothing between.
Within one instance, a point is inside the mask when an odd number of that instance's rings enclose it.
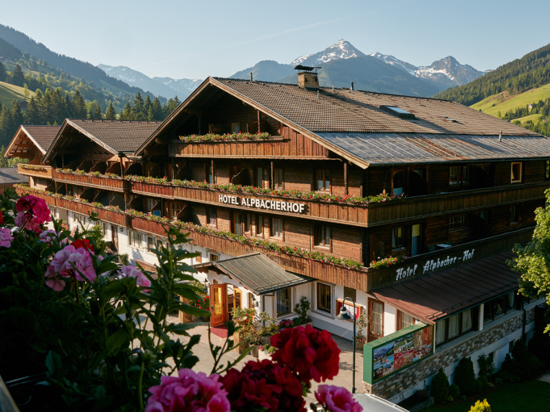
<instances>
[{"instance_id":1,"label":"brown roof of the middle gable, left of the main roof","mask_svg":"<svg viewBox=\"0 0 550 412\"><path fill-rule=\"evenodd\" d=\"M153 134L162 122L141 122L134 120L65 119L58 137L47 151L47 161L57 146L61 146L66 130L74 129L113 155L133 153Z\"/></svg>"}]
</instances>

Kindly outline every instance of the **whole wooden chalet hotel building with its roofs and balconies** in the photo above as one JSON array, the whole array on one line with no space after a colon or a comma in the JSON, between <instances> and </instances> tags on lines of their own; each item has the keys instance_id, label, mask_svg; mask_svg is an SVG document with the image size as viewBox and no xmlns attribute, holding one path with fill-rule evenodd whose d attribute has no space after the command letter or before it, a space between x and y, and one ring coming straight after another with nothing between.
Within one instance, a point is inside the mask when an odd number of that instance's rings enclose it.
<instances>
[{"instance_id":1,"label":"whole wooden chalet hotel building with its roofs and balconies","mask_svg":"<svg viewBox=\"0 0 550 412\"><path fill-rule=\"evenodd\" d=\"M69 226L98 211L131 260L154 264L168 224L192 231L214 325L234 306L293 317L303 296L314 326L346 339L344 297L369 319L369 341L431 325L421 373L366 385L393 401L439 366L452 373L456 345L500 365L533 330L536 303L516 295L504 262L544 206L550 141L460 104L208 78L162 124L67 119L41 161L20 170L30 190L55 193L34 192Z\"/></svg>"}]
</instances>

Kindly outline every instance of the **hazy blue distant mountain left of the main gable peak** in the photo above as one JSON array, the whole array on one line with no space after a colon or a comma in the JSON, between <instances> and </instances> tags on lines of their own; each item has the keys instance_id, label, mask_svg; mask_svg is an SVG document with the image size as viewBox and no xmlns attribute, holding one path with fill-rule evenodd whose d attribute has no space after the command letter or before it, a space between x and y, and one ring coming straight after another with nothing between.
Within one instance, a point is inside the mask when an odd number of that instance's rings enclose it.
<instances>
[{"instance_id":1,"label":"hazy blue distant mountain left of the main gable peak","mask_svg":"<svg viewBox=\"0 0 550 412\"><path fill-rule=\"evenodd\" d=\"M150 78L141 71L126 66L98 65L98 67L113 78L166 99L177 95L179 100L184 100L202 82L199 79Z\"/></svg>"}]
</instances>

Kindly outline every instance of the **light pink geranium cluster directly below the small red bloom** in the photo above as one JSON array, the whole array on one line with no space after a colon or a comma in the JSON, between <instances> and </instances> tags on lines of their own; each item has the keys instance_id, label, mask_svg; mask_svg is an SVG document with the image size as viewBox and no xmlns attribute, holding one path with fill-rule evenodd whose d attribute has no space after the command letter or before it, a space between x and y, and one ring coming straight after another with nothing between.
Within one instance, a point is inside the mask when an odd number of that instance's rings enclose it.
<instances>
[{"instance_id":1,"label":"light pink geranium cluster directly below the small red bloom","mask_svg":"<svg viewBox=\"0 0 550 412\"><path fill-rule=\"evenodd\" d=\"M79 247L75 249L72 244L61 249L54 255L54 259L47 267L45 277L46 285L50 288L59 291L65 287L65 282L61 277L74 276L78 281L84 282L84 278L90 282L96 279L96 269L91 262L91 252Z\"/></svg>"}]
</instances>

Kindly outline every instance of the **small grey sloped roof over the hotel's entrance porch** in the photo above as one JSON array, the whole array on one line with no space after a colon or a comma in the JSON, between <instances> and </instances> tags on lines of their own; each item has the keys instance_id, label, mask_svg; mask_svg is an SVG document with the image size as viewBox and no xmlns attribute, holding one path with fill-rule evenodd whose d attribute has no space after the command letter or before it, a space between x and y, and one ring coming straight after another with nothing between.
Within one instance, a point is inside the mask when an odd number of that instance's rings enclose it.
<instances>
[{"instance_id":1,"label":"small grey sloped roof over the hotel's entrance porch","mask_svg":"<svg viewBox=\"0 0 550 412\"><path fill-rule=\"evenodd\" d=\"M311 282L311 278L285 271L261 253L207 262L194 266L197 270L212 269L229 276L256 295L265 295L290 286Z\"/></svg>"}]
</instances>

